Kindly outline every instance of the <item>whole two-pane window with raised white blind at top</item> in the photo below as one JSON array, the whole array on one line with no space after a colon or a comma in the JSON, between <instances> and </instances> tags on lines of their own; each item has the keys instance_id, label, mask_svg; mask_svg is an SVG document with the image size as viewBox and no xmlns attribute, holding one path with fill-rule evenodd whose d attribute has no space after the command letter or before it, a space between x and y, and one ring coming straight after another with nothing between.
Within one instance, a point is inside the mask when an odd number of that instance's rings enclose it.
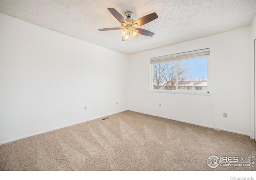
<instances>
[{"instance_id":1,"label":"whole two-pane window with raised white blind at top","mask_svg":"<svg viewBox=\"0 0 256 180\"><path fill-rule=\"evenodd\" d=\"M209 56L210 49L202 49L151 58L151 89L209 92Z\"/></svg>"}]
</instances>

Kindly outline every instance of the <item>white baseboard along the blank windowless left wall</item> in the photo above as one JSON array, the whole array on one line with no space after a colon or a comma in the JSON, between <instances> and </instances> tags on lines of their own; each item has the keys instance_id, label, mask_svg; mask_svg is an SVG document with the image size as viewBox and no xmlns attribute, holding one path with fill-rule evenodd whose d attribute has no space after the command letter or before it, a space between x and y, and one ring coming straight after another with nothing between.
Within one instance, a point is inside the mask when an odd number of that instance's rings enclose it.
<instances>
[{"instance_id":1,"label":"white baseboard along the blank windowless left wall","mask_svg":"<svg viewBox=\"0 0 256 180\"><path fill-rule=\"evenodd\" d=\"M124 111L126 111L126 110L122 110L122 111L119 111L119 112L124 112ZM6 144L8 142L13 142L13 141L16 141L16 140L20 140L20 139L23 139L23 138L28 138L30 136L35 136L35 135L38 135L38 134L42 134L42 133L45 133L45 132L50 132L50 131L53 131L53 130L57 130L57 129L61 129L61 128L66 128L68 126L73 126L73 125L76 125L76 124L80 124L82 122L87 122L87 121L98 119L98 118L102 118L102 117L105 117L105 116L110 116L112 114L116 114L116 113L119 113L119 112L114 112L114 113L106 114L104 116L98 116L98 117L95 117L95 118L90 118L90 119L83 120L83 121L80 121L80 122L76 122L76 123L72 123L72 124L67 124L67 125L64 125L64 126L59 126L57 128L48 129L48 130L45 130L45 131L40 131L40 132L36 132L36 133L32 133L32 134L27 134L27 135L24 135L24 136L19 136L17 138L12 138L12 139L9 139L9 140L6 140L6 141L2 141L2 142L0 142L0 145L1 144Z\"/></svg>"}]
</instances>

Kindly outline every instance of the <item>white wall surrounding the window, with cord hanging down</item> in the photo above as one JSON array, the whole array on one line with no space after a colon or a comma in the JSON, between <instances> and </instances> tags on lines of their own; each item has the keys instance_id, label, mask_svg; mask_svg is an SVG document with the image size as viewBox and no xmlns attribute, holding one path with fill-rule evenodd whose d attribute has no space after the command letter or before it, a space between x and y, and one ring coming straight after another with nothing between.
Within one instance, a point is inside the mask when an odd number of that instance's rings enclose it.
<instances>
[{"instance_id":1,"label":"white wall surrounding the window, with cord hanging down","mask_svg":"<svg viewBox=\"0 0 256 180\"><path fill-rule=\"evenodd\" d=\"M150 58L210 48L211 96L150 92ZM129 56L128 109L250 135L250 28ZM162 107L159 108L158 104ZM223 112L228 118L223 118Z\"/></svg>"}]
</instances>

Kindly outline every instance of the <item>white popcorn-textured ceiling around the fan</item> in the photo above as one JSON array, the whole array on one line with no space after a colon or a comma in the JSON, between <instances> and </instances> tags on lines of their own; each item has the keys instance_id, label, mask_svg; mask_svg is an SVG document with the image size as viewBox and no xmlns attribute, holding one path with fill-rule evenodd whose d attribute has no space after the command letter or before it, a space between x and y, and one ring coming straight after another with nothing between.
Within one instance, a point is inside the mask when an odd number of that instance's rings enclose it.
<instances>
[{"instance_id":1,"label":"white popcorn-textured ceiling around the fan","mask_svg":"<svg viewBox=\"0 0 256 180\"><path fill-rule=\"evenodd\" d=\"M121 27L107 8L134 12L136 20L156 12L156 20L140 28L154 36L140 35L122 42ZM0 12L124 54L134 54L249 26L256 15L256 1L0 1Z\"/></svg>"}]
</instances>

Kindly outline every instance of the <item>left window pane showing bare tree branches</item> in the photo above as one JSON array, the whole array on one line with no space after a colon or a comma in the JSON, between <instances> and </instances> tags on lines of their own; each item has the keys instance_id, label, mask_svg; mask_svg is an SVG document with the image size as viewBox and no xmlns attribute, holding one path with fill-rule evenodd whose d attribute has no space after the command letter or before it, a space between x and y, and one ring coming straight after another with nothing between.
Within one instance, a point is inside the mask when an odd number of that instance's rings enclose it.
<instances>
[{"instance_id":1,"label":"left window pane showing bare tree branches","mask_svg":"<svg viewBox=\"0 0 256 180\"><path fill-rule=\"evenodd\" d=\"M176 62L153 64L153 89L175 90Z\"/></svg>"}]
</instances>

